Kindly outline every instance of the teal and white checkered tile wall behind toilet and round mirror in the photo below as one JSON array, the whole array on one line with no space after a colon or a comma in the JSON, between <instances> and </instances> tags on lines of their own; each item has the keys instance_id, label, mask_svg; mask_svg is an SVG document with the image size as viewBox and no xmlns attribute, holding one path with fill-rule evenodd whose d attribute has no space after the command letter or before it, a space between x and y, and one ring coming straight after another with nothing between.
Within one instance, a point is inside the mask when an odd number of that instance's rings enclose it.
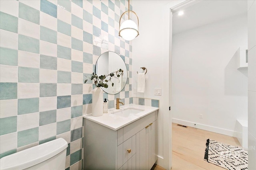
<instances>
[{"instance_id":1,"label":"teal and white checkered tile wall behind toilet and round mirror","mask_svg":"<svg viewBox=\"0 0 256 170\"><path fill-rule=\"evenodd\" d=\"M129 104L132 45L118 36L128 0L0 1L0 157L64 138L66 168L82 169L82 115L91 112L92 82L83 84L106 51L128 68L122 92Z\"/></svg>"}]
</instances>

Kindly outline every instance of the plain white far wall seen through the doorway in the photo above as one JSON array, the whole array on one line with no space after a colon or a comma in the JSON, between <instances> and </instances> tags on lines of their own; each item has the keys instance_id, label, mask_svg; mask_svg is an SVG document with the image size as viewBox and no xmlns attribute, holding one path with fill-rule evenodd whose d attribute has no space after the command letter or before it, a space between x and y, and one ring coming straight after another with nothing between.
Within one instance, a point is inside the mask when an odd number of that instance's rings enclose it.
<instances>
[{"instance_id":1,"label":"plain white far wall seen through the doorway","mask_svg":"<svg viewBox=\"0 0 256 170\"><path fill-rule=\"evenodd\" d=\"M236 53L247 47L247 14L178 33L172 42L173 121L233 135L236 119L247 120L248 112L247 70L237 69Z\"/></svg>"}]
</instances>

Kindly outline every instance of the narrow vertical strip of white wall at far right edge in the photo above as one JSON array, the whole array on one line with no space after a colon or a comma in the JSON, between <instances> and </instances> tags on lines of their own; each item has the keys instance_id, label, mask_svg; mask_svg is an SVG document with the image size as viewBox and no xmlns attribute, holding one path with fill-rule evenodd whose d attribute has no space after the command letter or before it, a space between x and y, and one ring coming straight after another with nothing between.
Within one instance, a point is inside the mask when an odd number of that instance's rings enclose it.
<instances>
[{"instance_id":1,"label":"narrow vertical strip of white wall at far right edge","mask_svg":"<svg viewBox=\"0 0 256 170\"><path fill-rule=\"evenodd\" d=\"M248 170L256 169L256 1L248 1Z\"/></svg>"}]
</instances>

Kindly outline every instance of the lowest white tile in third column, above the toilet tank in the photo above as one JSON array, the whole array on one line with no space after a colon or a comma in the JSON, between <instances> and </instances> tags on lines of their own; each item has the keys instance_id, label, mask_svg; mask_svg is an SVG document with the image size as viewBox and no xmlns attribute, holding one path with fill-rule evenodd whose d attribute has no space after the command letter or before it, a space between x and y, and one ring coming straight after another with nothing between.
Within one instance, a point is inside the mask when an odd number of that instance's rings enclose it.
<instances>
[{"instance_id":1,"label":"lowest white tile in third column, above the toilet tank","mask_svg":"<svg viewBox=\"0 0 256 170\"><path fill-rule=\"evenodd\" d=\"M56 123L39 126L39 141L56 136Z\"/></svg>"}]
</instances>

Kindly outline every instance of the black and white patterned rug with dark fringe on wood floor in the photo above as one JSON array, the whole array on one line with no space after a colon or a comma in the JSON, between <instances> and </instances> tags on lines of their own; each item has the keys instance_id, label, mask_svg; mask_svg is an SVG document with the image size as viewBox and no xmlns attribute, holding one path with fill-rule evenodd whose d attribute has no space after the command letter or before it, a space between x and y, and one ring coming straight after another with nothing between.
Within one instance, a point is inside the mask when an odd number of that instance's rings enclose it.
<instances>
[{"instance_id":1,"label":"black and white patterned rug with dark fringe on wood floor","mask_svg":"<svg viewBox=\"0 0 256 170\"><path fill-rule=\"evenodd\" d=\"M247 170L248 150L207 139L204 160L227 170Z\"/></svg>"}]
</instances>

